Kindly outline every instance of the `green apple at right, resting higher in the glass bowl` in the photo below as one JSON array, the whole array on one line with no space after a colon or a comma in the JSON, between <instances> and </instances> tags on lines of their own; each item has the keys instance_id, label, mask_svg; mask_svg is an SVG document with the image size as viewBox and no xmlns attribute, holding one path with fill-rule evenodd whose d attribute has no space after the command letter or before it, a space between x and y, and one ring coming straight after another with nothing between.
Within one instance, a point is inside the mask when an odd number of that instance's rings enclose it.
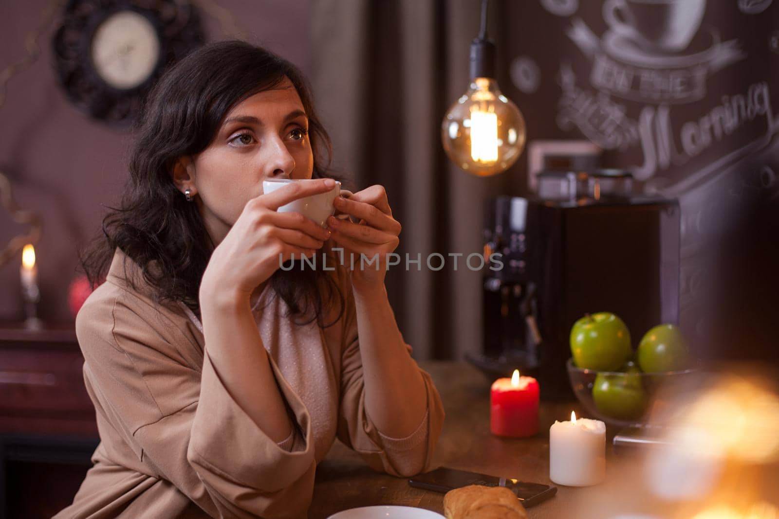
<instances>
[{"instance_id":1,"label":"green apple at right, resting higher in the glass bowl","mask_svg":"<svg viewBox=\"0 0 779 519\"><path fill-rule=\"evenodd\" d=\"M644 373L689 367L689 348L679 328L673 324L660 324L647 331L638 345L638 364Z\"/></svg>"}]
</instances>

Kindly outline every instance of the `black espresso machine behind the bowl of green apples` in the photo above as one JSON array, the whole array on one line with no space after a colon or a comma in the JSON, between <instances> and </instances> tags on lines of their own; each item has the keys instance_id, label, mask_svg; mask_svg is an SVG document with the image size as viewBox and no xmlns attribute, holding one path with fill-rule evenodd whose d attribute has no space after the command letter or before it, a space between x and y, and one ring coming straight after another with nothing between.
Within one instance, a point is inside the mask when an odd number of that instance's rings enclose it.
<instances>
[{"instance_id":1,"label":"black espresso machine behind the bowl of green apples","mask_svg":"<svg viewBox=\"0 0 779 519\"><path fill-rule=\"evenodd\" d=\"M635 195L620 170L541 172L538 196L485 201L483 346L467 359L489 377L536 377L541 398L570 398L569 333L585 314L625 321L635 347L679 321L679 204Z\"/></svg>"}]
</instances>

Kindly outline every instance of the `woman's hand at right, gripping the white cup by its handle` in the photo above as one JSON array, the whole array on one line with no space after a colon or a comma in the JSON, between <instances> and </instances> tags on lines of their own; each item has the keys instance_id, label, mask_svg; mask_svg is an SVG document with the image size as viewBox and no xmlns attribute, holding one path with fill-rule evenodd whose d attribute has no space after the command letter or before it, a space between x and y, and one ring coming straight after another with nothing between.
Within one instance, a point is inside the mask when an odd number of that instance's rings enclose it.
<instances>
[{"instance_id":1,"label":"woman's hand at right, gripping the white cup by its handle","mask_svg":"<svg viewBox=\"0 0 779 519\"><path fill-rule=\"evenodd\" d=\"M339 212L360 219L360 223L334 216L327 219L333 241L344 247L343 263L350 271L352 286L357 290L382 286L387 255L400 243L400 222L392 216L386 191L376 184L349 198L337 197L334 203ZM351 268L350 254L354 254L354 269ZM368 265L366 261L363 265L360 254L365 254L367 261L372 261L378 254L378 264Z\"/></svg>"}]
</instances>

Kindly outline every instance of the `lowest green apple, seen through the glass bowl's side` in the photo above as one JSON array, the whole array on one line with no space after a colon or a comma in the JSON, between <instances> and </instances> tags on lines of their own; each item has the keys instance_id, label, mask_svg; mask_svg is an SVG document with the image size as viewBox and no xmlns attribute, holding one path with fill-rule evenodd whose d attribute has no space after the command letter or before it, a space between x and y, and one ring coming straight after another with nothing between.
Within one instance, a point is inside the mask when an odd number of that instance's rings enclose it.
<instances>
[{"instance_id":1,"label":"lowest green apple, seen through the glass bowl's side","mask_svg":"<svg viewBox=\"0 0 779 519\"><path fill-rule=\"evenodd\" d=\"M620 420L637 419L647 409L647 395L637 373L597 373L592 398L597 410Z\"/></svg>"}]
</instances>

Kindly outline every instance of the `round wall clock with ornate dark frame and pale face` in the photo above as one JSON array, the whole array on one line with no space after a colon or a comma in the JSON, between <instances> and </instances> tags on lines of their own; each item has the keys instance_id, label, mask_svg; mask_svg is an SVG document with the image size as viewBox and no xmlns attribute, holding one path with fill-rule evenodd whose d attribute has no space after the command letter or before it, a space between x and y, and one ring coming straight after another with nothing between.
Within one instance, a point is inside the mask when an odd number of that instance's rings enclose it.
<instances>
[{"instance_id":1,"label":"round wall clock with ornate dark frame and pale face","mask_svg":"<svg viewBox=\"0 0 779 519\"><path fill-rule=\"evenodd\" d=\"M69 100L118 126L132 123L167 65L201 44L185 0L70 0L52 41Z\"/></svg>"}]
</instances>

